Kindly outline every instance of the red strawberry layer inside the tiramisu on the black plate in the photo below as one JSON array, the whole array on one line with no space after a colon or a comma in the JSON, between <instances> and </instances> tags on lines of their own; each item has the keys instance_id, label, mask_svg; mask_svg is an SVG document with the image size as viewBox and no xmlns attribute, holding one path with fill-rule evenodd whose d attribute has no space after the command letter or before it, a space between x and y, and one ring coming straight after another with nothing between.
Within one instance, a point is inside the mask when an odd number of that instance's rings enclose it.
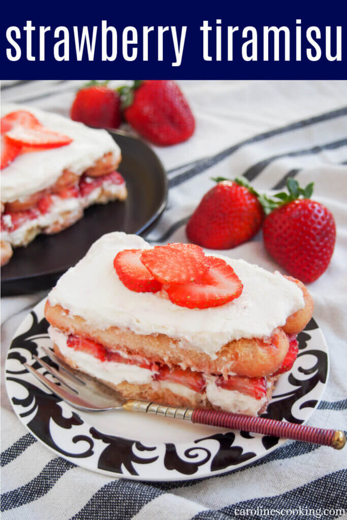
<instances>
[{"instance_id":1,"label":"red strawberry layer inside the tiramisu on the black plate","mask_svg":"<svg viewBox=\"0 0 347 520\"><path fill-rule=\"evenodd\" d=\"M8 232L15 231L30 220L48 213L50 209L52 209L53 204L58 200L85 198L102 185L106 185L106 187L120 186L124 184L124 182L123 177L118 172L112 172L99 177L87 177L82 175L78 184L63 188L54 193L45 190L42 197L29 210L9 212L6 210L5 204L5 211L1 215L1 230Z\"/></svg>"}]
</instances>

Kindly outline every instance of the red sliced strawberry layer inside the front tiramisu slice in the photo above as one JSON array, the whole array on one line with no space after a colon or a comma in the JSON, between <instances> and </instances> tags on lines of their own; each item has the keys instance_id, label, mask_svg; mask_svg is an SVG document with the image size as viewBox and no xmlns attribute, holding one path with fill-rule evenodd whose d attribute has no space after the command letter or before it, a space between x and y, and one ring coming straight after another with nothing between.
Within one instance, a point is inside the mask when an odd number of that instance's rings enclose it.
<instances>
[{"instance_id":1,"label":"red sliced strawberry layer inside the front tiramisu slice","mask_svg":"<svg viewBox=\"0 0 347 520\"><path fill-rule=\"evenodd\" d=\"M293 356L294 347L296 347L296 352L298 352L296 336L290 336L290 344L292 345L292 349L288 350L288 354L276 374L290 370L296 359L296 355L295 357ZM265 377L247 378L245 376L229 375L227 378L224 378L224 376L220 374L204 374L203 372L190 370L189 368L182 369L178 366L168 367L167 365L150 361L143 356L128 355L119 351L114 352L100 343L73 334L68 336L67 346L76 351L94 356L101 362L111 361L146 368L152 372L153 381L166 381L180 384L200 394L205 391L207 378L213 376L215 385L224 390L237 391L240 394L250 396L256 400L261 400L266 397L267 388Z\"/></svg>"}]
</instances>

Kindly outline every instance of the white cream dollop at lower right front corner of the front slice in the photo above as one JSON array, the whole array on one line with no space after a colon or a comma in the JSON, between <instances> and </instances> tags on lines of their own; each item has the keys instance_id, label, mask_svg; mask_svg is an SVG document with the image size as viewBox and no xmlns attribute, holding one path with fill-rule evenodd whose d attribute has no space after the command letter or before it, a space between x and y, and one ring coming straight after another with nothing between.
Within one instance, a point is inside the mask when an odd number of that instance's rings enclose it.
<instances>
[{"instance_id":1,"label":"white cream dollop at lower right front corner of the front slice","mask_svg":"<svg viewBox=\"0 0 347 520\"><path fill-rule=\"evenodd\" d=\"M206 385L206 395L213 406L232 413L256 415L266 402L266 396L255 399L237 390L227 390L215 384L215 378Z\"/></svg>"}]
</instances>

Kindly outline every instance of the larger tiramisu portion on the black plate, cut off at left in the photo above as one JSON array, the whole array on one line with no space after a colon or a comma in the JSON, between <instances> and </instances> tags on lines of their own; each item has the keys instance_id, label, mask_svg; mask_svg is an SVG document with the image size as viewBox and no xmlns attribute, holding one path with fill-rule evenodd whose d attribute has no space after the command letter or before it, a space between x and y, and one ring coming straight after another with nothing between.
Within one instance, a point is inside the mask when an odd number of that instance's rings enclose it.
<instances>
[{"instance_id":1,"label":"larger tiramisu portion on the black plate, cut off at left","mask_svg":"<svg viewBox=\"0 0 347 520\"><path fill-rule=\"evenodd\" d=\"M1 118L1 263L38 233L57 233L85 207L124 200L121 151L105 130L5 105Z\"/></svg>"}]
</instances>

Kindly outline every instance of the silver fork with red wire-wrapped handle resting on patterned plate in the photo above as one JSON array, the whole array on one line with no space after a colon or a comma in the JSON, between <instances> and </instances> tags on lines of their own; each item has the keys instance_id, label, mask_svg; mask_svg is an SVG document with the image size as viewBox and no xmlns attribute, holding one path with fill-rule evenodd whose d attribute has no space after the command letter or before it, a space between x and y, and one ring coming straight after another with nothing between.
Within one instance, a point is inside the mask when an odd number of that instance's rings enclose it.
<instances>
[{"instance_id":1,"label":"silver fork with red wire-wrapped handle resting on patterned plate","mask_svg":"<svg viewBox=\"0 0 347 520\"><path fill-rule=\"evenodd\" d=\"M152 413L161 417L220 426L230 430L242 430L285 439L301 440L306 443L331 446L335 449L342 449L346 443L345 434L339 430L326 430L303 424L251 417L250 415L228 413L219 410L176 407L142 399L125 399L119 392L112 390L82 372L71 369L52 350L42 348L48 358L56 363L60 370L56 370L35 355L33 357L49 374L55 376L60 384L58 385L50 381L45 375L28 365L28 363L24 363L25 368L55 395L80 410L126 410Z\"/></svg>"}]
</instances>

